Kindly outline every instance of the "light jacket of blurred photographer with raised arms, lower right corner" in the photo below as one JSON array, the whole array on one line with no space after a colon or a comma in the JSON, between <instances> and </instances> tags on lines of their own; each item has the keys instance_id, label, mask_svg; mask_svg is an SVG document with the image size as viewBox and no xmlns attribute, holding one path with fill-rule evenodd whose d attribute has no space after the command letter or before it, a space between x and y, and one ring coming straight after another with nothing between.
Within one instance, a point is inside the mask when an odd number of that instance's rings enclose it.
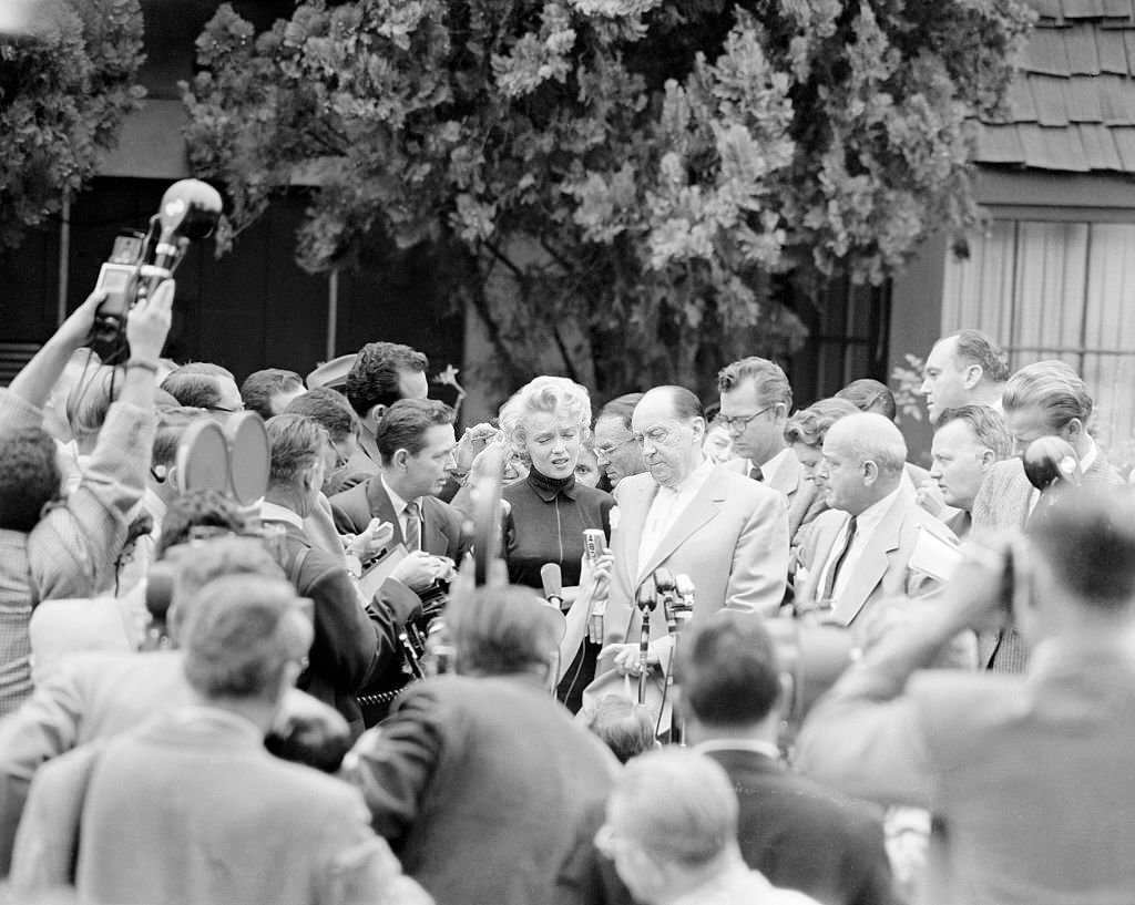
<instances>
[{"instance_id":1,"label":"light jacket of blurred photographer with raised arms, lower right corner","mask_svg":"<svg viewBox=\"0 0 1135 905\"><path fill-rule=\"evenodd\" d=\"M864 661L809 717L802 769L850 795L933 807L951 905L1135 902L1135 636L1057 638L1025 675ZM868 675L869 670L869 675Z\"/></svg>"}]
</instances>

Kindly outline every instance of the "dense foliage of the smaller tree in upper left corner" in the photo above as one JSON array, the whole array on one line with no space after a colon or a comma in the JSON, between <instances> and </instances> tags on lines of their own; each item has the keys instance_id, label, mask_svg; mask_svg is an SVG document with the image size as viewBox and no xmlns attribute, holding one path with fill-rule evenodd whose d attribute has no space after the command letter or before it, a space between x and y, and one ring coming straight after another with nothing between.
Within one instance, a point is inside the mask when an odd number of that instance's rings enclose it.
<instances>
[{"instance_id":1,"label":"dense foliage of the smaller tree in upper left corner","mask_svg":"<svg viewBox=\"0 0 1135 905\"><path fill-rule=\"evenodd\" d=\"M0 252L94 176L144 91L137 0L40 0L0 36Z\"/></svg>"}]
</instances>

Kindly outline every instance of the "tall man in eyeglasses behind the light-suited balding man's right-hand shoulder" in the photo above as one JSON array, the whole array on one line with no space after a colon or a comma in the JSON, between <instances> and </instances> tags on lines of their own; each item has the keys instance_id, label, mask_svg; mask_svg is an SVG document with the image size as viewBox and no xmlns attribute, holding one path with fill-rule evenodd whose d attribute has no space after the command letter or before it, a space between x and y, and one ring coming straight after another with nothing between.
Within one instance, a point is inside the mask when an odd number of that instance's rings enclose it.
<instances>
[{"instance_id":1,"label":"tall man in eyeglasses behind the light-suited balding man's right-hand shoulder","mask_svg":"<svg viewBox=\"0 0 1135 905\"><path fill-rule=\"evenodd\" d=\"M738 458L728 467L760 481L789 501L789 530L796 535L815 499L816 485L804 480L800 460L784 442L792 412L792 387L780 365L749 356L717 374L721 414Z\"/></svg>"}]
</instances>

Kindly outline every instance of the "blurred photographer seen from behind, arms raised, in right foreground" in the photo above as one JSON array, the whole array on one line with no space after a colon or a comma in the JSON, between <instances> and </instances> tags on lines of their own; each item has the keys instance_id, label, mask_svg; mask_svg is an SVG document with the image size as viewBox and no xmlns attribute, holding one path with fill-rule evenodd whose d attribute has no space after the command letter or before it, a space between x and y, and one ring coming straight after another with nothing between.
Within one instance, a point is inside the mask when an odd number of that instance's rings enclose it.
<instances>
[{"instance_id":1,"label":"blurred photographer seen from behind, arms raised, in right foreground","mask_svg":"<svg viewBox=\"0 0 1135 905\"><path fill-rule=\"evenodd\" d=\"M934 809L950 870L927 902L1135 902L1133 502L1083 490L1040 510L1011 557L1003 540L974 545L924 618L869 650L805 724L802 772ZM1033 651L1025 675L931 668L958 632L1003 624L1009 600Z\"/></svg>"}]
</instances>

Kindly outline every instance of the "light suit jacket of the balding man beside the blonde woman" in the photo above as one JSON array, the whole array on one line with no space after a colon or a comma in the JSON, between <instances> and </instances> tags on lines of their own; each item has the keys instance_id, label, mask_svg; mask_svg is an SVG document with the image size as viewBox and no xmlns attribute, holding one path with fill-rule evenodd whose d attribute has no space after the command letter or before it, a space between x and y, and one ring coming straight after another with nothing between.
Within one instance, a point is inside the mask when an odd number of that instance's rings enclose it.
<instances>
[{"instance_id":1,"label":"light suit jacket of the balding man beside the blonde woman","mask_svg":"<svg viewBox=\"0 0 1135 905\"><path fill-rule=\"evenodd\" d=\"M690 576L697 589L693 620L722 607L775 614L788 575L788 504L784 496L723 466L709 473L701 490L641 568L642 526L658 484L649 473L624 477L615 488L617 525L612 517L614 567L605 634L608 642L637 641L634 595L639 575L665 566ZM651 635L666 634L661 612Z\"/></svg>"}]
</instances>

